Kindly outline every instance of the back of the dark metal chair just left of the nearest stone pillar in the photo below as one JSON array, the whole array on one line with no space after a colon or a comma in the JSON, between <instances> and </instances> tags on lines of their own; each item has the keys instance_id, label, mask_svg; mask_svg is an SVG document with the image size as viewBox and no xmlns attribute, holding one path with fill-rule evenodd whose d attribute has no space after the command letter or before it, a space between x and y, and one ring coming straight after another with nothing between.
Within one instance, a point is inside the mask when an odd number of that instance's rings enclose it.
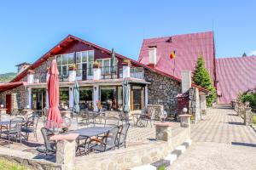
<instances>
[{"instance_id":1,"label":"back of the dark metal chair just left of the nearest stone pillar","mask_svg":"<svg viewBox=\"0 0 256 170\"><path fill-rule=\"evenodd\" d=\"M55 152L55 141L54 140L49 140L51 136L53 136L55 133L49 128L42 127L41 128L41 133L43 134L44 137L44 147L46 151L54 151Z\"/></svg>"}]
</instances>

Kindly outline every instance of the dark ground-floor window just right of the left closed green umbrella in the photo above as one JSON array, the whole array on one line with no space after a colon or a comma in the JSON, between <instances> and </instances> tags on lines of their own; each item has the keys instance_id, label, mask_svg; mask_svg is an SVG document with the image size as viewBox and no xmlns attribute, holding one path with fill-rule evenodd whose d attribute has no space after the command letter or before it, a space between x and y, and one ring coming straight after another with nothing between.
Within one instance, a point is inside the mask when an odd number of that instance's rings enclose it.
<instances>
[{"instance_id":1,"label":"dark ground-floor window just right of the left closed green umbrella","mask_svg":"<svg viewBox=\"0 0 256 170\"><path fill-rule=\"evenodd\" d=\"M79 88L79 106L80 109L93 110L93 88L92 87L80 87Z\"/></svg>"}]
</instances>

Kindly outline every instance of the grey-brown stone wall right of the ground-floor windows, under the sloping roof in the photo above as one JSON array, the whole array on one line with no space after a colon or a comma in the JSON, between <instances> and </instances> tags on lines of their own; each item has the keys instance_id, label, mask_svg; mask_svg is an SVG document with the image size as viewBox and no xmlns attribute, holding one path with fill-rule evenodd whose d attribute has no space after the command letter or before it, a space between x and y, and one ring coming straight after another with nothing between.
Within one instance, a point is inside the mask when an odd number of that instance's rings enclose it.
<instances>
[{"instance_id":1,"label":"grey-brown stone wall right of the ground-floor windows, under the sloping roof","mask_svg":"<svg viewBox=\"0 0 256 170\"><path fill-rule=\"evenodd\" d=\"M181 93L181 83L172 78L162 76L153 71L145 70L148 85L148 104L164 105L165 111L175 114L177 109L177 94Z\"/></svg>"}]
</instances>

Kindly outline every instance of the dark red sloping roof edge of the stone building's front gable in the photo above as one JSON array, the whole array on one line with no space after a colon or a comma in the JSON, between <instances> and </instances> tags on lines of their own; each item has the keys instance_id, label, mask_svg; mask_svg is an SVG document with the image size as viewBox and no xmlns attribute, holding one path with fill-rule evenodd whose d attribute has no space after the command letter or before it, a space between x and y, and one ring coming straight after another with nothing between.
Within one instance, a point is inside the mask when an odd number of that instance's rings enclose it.
<instances>
[{"instance_id":1,"label":"dark red sloping roof edge of the stone building's front gable","mask_svg":"<svg viewBox=\"0 0 256 170\"><path fill-rule=\"evenodd\" d=\"M30 65L29 67L26 68L25 71L22 71L17 77L15 77L11 82L19 82L21 78L26 77L27 71L28 70L33 70L35 68L38 67L38 65L41 65L45 60L47 60L51 55L57 54L58 52L60 52L63 48L66 48L68 46L69 43L73 42L73 41L79 41L79 42L83 42L86 45L89 45L93 48L97 48L102 50L104 53L108 53L111 54L111 51L106 49L106 48L102 48L94 43L91 42L87 42L84 41L83 39L80 39L79 37L74 37L72 35L68 35L66 38L64 38L61 42L59 42L54 48L51 48L46 54L44 54L40 59L38 59L35 63L33 63L32 65ZM116 57L119 57L121 59L129 59L121 54L116 54ZM170 77L173 80L176 80L177 82L181 82L181 79L178 77L174 77L164 71L160 71L158 69L154 69L149 67L148 65L144 65L143 63L139 63L134 59L130 59L131 63L134 65L138 65L138 66L142 66L144 68L147 68L148 70L157 72L158 74L162 75L162 76L166 76L166 77ZM200 91L208 93L209 91L205 88L201 88L199 86L196 86L195 84L192 84L192 87L196 87L199 88Z\"/></svg>"}]
</instances>

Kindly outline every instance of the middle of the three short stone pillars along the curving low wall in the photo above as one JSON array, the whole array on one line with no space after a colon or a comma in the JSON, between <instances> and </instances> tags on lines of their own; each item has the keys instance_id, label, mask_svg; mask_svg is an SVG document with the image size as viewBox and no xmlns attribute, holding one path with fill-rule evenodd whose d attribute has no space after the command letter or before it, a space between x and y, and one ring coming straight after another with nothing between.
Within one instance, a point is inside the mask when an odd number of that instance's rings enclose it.
<instances>
[{"instance_id":1,"label":"middle of the three short stone pillars along the curving low wall","mask_svg":"<svg viewBox=\"0 0 256 170\"><path fill-rule=\"evenodd\" d=\"M172 143L172 123L157 122L155 123L155 139Z\"/></svg>"}]
</instances>

